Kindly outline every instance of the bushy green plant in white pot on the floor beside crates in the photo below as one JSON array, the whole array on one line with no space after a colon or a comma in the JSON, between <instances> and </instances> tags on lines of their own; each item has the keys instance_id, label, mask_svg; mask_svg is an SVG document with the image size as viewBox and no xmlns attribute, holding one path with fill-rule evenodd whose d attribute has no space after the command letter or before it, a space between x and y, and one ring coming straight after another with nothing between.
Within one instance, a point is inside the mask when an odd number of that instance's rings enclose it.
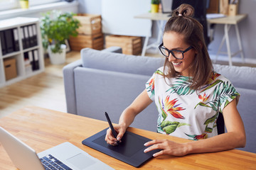
<instances>
[{"instance_id":1,"label":"bushy green plant in white pot on the floor beside crates","mask_svg":"<svg viewBox=\"0 0 256 170\"><path fill-rule=\"evenodd\" d=\"M68 40L70 35L74 37L78 35L80 22L73 16L73 13L50 11L41 18L43 47L48 50L52 64L65 62L65 40Z\"/></svg>"}]
</instances>

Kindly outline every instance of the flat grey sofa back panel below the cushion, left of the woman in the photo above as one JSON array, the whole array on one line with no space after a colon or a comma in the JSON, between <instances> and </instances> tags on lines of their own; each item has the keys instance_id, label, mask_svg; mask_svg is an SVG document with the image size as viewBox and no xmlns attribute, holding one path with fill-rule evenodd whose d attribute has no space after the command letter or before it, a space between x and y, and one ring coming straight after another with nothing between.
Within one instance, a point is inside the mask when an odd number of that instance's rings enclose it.
<instances>
[{"instance_id":1,"label":"flat grey sofa back panel below the cushion, left of the woman","mask_svg":"<svg viewBox=\"0 0 256 170\"><path fill-rule=\"evenodd\" d=\"M75 74L75 101L77 114L106 121L110 114L113 123L134 98L144 89L150 76L77 67ZM132 127L156 132L158 111L151 103L132 123Z\"/></svg>"}]
</instances>

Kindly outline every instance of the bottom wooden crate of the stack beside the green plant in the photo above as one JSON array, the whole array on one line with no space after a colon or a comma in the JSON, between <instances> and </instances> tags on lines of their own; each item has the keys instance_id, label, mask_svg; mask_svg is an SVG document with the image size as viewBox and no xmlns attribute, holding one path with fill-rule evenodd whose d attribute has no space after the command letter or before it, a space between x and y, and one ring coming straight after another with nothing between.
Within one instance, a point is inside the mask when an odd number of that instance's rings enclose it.
<instances>
[{"instance_id":1,"label":"bottom wooden crate of the stack beside the green plant","mask_svg":"<svg viewBox=\"0 0 256 170\"><path fill-rule=\"evenodd\" d=\"M90 47L95 50L103 49L103 34L93 35L78 35L77 37L70 37L71 50L80 51L82 48Z\"/></svg>"}]
</instances>

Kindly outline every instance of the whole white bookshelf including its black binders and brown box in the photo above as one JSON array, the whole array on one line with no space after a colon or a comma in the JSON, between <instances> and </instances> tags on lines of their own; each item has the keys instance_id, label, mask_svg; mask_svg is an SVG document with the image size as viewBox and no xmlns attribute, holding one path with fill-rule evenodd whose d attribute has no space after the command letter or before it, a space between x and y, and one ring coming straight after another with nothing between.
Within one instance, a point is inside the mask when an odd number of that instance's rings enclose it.
<instances>
[{"instance_id":1,"label":"whole white bookshelf including its black binders and brown box","mask_svg":"<svg viewBox=\"0 0 256 170\"><path fill-rule=\"evenodd\" d=\"M0 21L0 88L44 71L38 18Z\"/></svg>"}]
</instances>

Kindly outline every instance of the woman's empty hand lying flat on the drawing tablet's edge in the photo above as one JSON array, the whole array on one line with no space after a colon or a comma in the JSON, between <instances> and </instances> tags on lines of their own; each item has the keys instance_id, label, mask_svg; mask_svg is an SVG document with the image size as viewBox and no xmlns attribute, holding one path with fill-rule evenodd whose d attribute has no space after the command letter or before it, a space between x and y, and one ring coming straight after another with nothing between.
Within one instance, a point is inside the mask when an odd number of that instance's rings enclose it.
<instances>
[{"instance_id":1,"label":"woman's empty hand lying flat on the drawing tablet's edge","mask_svg":"<svg viewBox=\"0 0 256 170\"><path fill-rule=\"evenodd\" d=\"M151 145L151 147L149 147ZM154 149L161 149L160 152L153 154L153 157L158 157L163 154L173 156L184 156L188 154L188 146L186 144L172 142L171 140L151 140L146 142L144 146L148 147L144 152L150 152Z\"/></svg>"}]
</instances>

